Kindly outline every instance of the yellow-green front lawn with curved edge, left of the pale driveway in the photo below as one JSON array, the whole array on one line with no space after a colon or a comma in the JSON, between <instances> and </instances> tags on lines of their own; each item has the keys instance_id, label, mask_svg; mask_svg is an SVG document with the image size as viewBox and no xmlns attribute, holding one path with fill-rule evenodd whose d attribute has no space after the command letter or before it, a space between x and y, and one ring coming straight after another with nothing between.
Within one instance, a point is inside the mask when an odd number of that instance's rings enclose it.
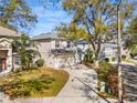
<instances>
[{"instance_id":1,"label":"yellow-green front lawn with curved edge, left of the pale driveway","mask_svg":"<svg viewBox=\"0 0 137 103\"><path fill-rule=\"evenodd\" d=\"M0 89L12 99L55 96L67 80L63 70L41 68L0 78Z\"/></svg>"}]
</instances>

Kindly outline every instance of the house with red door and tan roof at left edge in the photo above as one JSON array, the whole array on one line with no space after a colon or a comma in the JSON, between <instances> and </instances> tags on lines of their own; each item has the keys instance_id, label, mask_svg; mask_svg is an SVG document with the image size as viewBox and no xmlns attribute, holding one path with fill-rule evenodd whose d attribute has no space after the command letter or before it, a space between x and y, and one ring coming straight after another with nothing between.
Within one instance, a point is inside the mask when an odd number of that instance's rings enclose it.
<instances>
[{"instance_id":1,"label":"house with red door and tan roof at left edge","mask_svg":"<svg viewBox=\"0 0 137 103\"><path fill-rule=\"evenodd\" d=\"M10 72L14 68L12 37L19 37L20 33L0 27L0 74Z\"/></svg>"}]
</instances>

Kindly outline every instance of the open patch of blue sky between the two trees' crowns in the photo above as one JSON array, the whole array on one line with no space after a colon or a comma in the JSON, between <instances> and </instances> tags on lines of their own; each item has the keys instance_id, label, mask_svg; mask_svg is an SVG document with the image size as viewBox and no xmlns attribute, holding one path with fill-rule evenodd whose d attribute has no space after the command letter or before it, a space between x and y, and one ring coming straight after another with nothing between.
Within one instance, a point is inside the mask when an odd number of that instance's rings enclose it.
<instances>
[{"instance_id":1,"label":"open patch of blue sky between the two trees' crowns","mask_svg":"<svg viewBox=\"0 0 137 103\"><path fill-rule=\"evenodd\" d=\"M32 9L32 12L38 16L38 23L29 31L31 35L53 32L54 28L62 22L68 23L72 20L72 16L65 12L60 3L56 6L48 3L45 8L40 0L27 0L27 3Z\"/></svg>"}]
</instances>

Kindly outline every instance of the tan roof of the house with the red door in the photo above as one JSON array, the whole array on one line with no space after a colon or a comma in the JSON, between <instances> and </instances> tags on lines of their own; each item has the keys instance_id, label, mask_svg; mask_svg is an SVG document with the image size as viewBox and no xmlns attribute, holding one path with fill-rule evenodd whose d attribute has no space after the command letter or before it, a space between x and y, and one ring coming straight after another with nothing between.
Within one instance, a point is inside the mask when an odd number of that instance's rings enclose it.
<instances>
[{"instance_id":1,"label":"tan roof of the house with the red door","mask_svg":"<svg viewBox=\"0 0 137 103\"><path fill-rule=\"evenodd\" d=\"M0 37L19 37L21 33L17 31L0 27Z\"/></svg>"}]
</instances>

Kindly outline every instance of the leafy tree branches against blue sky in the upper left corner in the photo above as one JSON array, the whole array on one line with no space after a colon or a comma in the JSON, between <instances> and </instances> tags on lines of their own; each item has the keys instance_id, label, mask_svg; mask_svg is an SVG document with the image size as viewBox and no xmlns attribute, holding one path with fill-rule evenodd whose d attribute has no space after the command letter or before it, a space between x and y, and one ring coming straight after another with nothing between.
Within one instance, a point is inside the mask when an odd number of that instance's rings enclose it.
<instances>
[{"instance_id":1,"label":"leafy tree branches against blue sky in the upper left corner","mask_svg":"<svg viewBox=\"0 0 137 103\"><path fill-rule=\"evenodd\" d=\"M0 0L0 25L17 30L30 28L34 22L36 17L25 0Z\"/></svg>"}]
</instances>

